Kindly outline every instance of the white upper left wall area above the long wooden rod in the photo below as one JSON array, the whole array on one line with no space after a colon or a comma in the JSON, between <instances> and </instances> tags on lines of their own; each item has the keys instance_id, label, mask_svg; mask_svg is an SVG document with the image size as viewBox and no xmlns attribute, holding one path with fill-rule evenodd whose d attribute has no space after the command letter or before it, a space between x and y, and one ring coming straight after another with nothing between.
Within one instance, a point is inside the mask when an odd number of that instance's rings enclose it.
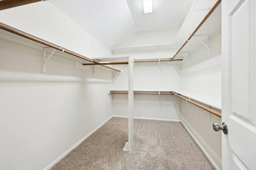
<instances>
[{"instance_id":1,"label":"white upper left wall area above the long wooden rod","mask_svg":"<svg viewBox=\"0 0 256 170\"><path fill-rule=\"evenodd\" d=\"M84 57L112 55L110 50L50 2L0 11L0 21Z\"/></svg>"}]
</instances>

